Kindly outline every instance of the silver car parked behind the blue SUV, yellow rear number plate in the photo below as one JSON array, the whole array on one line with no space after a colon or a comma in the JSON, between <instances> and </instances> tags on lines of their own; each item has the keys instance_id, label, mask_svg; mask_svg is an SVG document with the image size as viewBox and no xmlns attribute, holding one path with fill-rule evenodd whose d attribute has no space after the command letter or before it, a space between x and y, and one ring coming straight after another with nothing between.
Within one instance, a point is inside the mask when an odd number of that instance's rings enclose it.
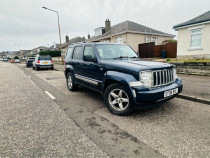
<instances>
[{"instance_id":1,"label":"silver car parked behind the blue SUV, yellow rear number plate","mask_svg":"<svg viewBox=\"0 0 210 158\"><path fill-rule=\"evenodd\" d=\"M51 56L36 56L35 60L33 61L33 69L37 71L39 69L54 69L54 64Z\"/></svg>"}]
</instances>

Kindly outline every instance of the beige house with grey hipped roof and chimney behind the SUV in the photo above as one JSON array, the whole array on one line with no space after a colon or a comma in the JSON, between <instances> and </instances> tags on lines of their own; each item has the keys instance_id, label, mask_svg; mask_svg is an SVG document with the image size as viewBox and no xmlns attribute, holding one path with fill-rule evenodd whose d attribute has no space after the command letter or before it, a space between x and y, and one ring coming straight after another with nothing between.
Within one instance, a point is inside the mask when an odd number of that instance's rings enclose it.
<instances>
[{"instance_id":1,"label":"beige house with grey hipped roof and chimney behind the SUV","mask_svg":"<svg viewBox=\"0 0 210 158\"><path fill-rule=\"evenodd\" d=\"M138 52L138 45L141 43L155 42L156 45L159 45L163 41L174 37L174 35L128 20L111 26L109 19L106 19L105 27L95 29L95 35L88 38L88 41L128 44Z\"/></svg>"}]
</instances>

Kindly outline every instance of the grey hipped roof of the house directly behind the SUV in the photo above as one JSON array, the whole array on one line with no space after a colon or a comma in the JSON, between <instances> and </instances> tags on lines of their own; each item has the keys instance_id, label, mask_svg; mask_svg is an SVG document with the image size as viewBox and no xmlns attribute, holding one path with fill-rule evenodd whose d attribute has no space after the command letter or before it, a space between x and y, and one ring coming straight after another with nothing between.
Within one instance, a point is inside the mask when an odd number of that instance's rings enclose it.
<instances>
[{"instance_id":1,"label":"grey hipped roof of the house directly behind the SUV","mask_svg":"<svg viewBox=\"0 0 210 158\"><path fill-rule=\"evenodd\" d=\"M109 37L111 35L116 35L116 34L125 33L125 32L174 37L174 35L167 34L167 33L164 33L164 32L149 28L147 26L140 25L138 23L127 20L127 21L124 21L124 22L121 22L119 24L112 26L111 29L108 32L104 33L103 35L93 36L89 38L88 41L97 41L97 40L106 38L107 36Z\"/></svg>"}]
</instances>

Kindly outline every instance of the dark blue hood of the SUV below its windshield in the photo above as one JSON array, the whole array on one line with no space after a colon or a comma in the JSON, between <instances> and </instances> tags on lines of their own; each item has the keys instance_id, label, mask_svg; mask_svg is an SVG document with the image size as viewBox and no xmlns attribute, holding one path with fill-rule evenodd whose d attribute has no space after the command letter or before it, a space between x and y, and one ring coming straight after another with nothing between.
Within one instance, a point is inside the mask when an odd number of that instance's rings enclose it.
<instances>
[{"instance_id":1,"label":"dark blue hood of the SUV below its windshield","mask_svg":"<svg viewBox=\"0 0 210 158\"><path fill-rule=\"evenodd\" d=\"M106 65L108 69L123 69L128 71L139 72L142 70L158 70L173 67L173 65L163 62L148 60L103 60L101 64Z\"/></svg>"}]
</instances>

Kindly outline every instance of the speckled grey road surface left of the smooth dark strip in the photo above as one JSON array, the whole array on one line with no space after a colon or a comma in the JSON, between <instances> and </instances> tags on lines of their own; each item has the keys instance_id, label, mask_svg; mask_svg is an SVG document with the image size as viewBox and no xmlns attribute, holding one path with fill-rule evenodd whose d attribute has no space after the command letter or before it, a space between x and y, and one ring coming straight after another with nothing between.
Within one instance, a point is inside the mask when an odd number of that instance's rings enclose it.
<instances>
[{"instance_id":1,"label":"speckled grey road surface left of the smooth dark strip","mask_svg":"<svg viewBox=\"0 0 210 158\"><path fill-rule=\"evenodd\" d=\"M17 65L0 74L0 157L108 157Z\"/></svg>"}]
</instances>

